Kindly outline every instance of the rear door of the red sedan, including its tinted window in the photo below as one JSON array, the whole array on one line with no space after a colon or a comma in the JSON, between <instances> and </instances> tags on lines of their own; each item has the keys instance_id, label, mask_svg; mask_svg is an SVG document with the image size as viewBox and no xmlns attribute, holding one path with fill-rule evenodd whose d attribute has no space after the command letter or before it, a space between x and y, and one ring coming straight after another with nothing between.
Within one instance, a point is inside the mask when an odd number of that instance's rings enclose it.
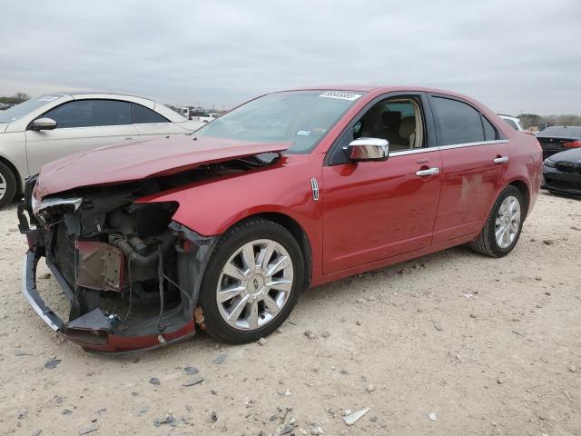
<instances>
[{"instance_id":1,"label":"rear door of the red sedan, including its tinted window","mask_svg":"<svg viewBox=\"0 0 581 436\"><path fill-rule=\"evenodd\" d=\"M433 243L481 230L508 161L507 140L468 102L431 95L442 157Z\"/></svg>"}]
</instances>

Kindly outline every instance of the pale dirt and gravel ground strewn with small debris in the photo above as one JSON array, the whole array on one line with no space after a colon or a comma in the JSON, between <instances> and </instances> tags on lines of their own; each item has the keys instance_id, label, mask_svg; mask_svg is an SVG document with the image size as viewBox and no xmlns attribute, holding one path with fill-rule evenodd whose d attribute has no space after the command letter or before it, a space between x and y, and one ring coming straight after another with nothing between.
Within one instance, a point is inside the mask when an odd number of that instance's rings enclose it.
<instances>
[{"instance_id":1,"label":"pale dirt and gravel ground strewn with small debris","mask_svg":"<svg viewBox=\"0 0 581 436\"><path fill-rule=\"evenodd\" d=\"M581 201L542 193L504 259L458 247L311 289L262 346L199 334L116 358L63 342L29 307L15 227L13 205L0 211L1 434L581 434ZM39 282L60 298L54 277Z\"/></svg>"}]
</instances>

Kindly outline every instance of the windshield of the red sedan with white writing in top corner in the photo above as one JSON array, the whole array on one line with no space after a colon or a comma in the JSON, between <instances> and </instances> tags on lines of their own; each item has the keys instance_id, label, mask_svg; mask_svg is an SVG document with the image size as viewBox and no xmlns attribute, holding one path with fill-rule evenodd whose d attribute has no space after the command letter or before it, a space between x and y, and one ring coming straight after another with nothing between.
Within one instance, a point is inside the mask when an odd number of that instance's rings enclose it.
<instances>
[{"instance_id":1,"label":"windshield of the red sedan with white writing in top corner","mask_svg":"<svg viewBox=\"0 0 581 436\"><path fill-rule=\"evenodd\" d=\"M307 154L363 94L343 91L268 94L223 114L195 134L253 143L291 142L287 153Z\"/></svg>"}]
</instances>

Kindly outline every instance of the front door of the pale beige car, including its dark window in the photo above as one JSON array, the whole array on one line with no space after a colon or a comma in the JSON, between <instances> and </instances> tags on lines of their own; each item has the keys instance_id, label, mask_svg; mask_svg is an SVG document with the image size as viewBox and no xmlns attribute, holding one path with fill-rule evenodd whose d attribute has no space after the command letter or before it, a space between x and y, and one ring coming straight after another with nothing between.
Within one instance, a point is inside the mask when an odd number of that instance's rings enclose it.
<instances>
[{"instance_id":1,"label":"front door of the pale beige car, including its dark window","mask_svg":"<svg viewBox=\"0 0 581 436\"><path fill-rule=\"evenodd\" d=\"M73 100L37 118L52 118L54 130L26 130L26 155L30 173L44 163L68 154L139 138L131 124L131 104L118 100Z\"/></svg>"}]
</instances>

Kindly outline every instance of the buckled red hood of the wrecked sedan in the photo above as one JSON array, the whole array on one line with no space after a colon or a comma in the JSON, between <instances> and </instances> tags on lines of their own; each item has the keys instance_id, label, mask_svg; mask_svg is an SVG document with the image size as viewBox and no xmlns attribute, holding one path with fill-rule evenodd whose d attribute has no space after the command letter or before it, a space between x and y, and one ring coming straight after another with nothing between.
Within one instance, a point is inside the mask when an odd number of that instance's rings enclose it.
<instances>
[{"instance_id":1,"label":"buckled red hood of the wrecked sedan","mask_svg":"<svg viewBox=\"0 0 581 436\"><path fill-rule=\"evenodd\" d=\"M290 146L191 135L107 145L45 164L34 195L41 200L46 195L84 186L132 182L254 154L281 153Z\"/></svg>"}]
</instances>

